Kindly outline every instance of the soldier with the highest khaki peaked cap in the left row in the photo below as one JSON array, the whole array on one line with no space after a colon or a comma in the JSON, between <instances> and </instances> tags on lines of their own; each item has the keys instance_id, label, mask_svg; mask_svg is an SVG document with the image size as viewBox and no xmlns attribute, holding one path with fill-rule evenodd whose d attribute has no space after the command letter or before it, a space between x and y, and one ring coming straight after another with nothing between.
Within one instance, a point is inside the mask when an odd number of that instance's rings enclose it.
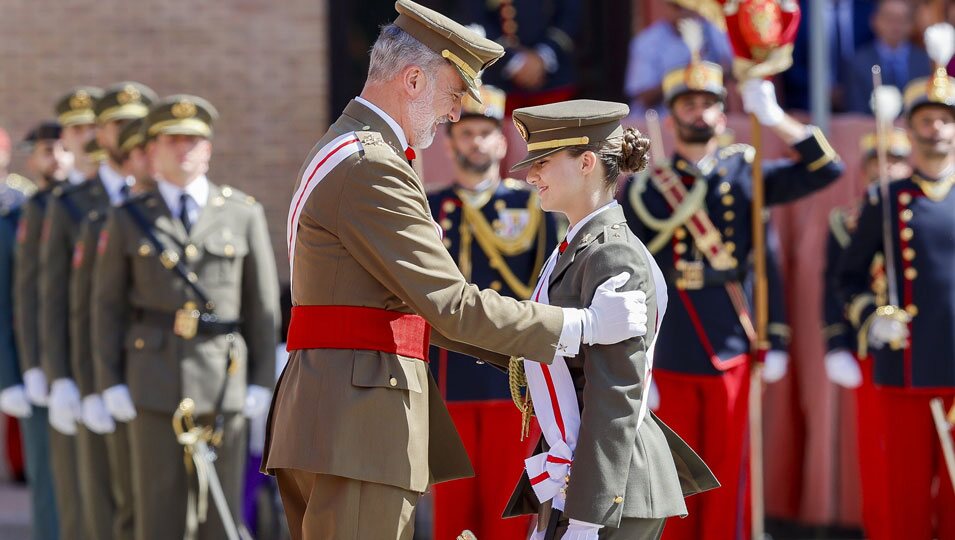
<instances>
[{"instance_id":1,"label":"soldier with the highest khaki peaked cap in the left row","mask_svg":"<svg viewBox=\"0 0 955 540\"><path fill-rule=\"evenodd\" d=\"M93 538L131 539L134 533L133 494L126 425L110 416L94 383L90 335L90 294L96 242L109 204L128 198L132 178L122 172L124 155L119 134L126 124L143 118L156 93L136 82L117 83L96 101L96 138L87 155L99 163L97 176L110 195L99 201L79 225L69 283L70 369L82 396L83 424L77 432L80 491Z\"/></svg>"}]
</instances>

